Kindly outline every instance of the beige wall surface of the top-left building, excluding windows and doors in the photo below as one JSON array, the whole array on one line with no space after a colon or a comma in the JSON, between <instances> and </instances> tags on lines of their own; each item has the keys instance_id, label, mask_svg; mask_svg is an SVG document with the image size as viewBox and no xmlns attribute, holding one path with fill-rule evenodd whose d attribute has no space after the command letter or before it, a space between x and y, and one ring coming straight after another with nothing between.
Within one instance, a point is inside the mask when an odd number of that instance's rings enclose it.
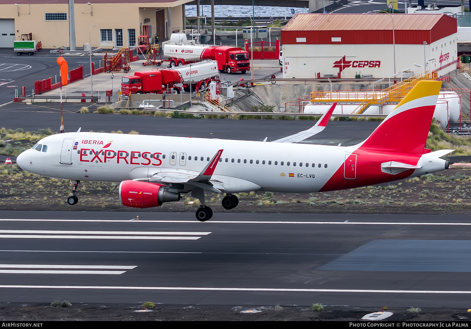
<instances>
[{"instance_id":1,"label":"beige wall surface of the top-left building, excluding windows and doors","mask_svg":"<svg viewBox=\"0 0 471 329\"><path fill-rule=\"evenodd\" d=\"M91 40L92 47L103 47L106 49L115 46L114 29L122 29L123 45L128 46L128 29L136 30L136 38L140 34L141 25L153 25L152 33L155 33L155 10L164 8L165 19L167 19L167 10L171 9L171 28L172 30L181 30L182 5L186 0L175 2L159 3L162 7L149 7L149 3L94 3L92 6L87 4L75 3L75 35L76 46L81 47ZM0 5L0 19L15 19L16 40L20 35L32 32L33 39L42 42L43 48L58 48L69 46L69 21L45 21L45 13L68 13L68 4L19 4L18 16L17 7L13 4ZM93 16L90 9L93 8ZM146 8L145 10L142 10ZM68 18L68 17L67 17ZM144 19L149 18L149 23L144 23ZM97 25L91 29L92 25ZM101 42L100 29L112 29L113 41ZM12 45L13 47L13 45Z\"/></svg>"}]
</instances>

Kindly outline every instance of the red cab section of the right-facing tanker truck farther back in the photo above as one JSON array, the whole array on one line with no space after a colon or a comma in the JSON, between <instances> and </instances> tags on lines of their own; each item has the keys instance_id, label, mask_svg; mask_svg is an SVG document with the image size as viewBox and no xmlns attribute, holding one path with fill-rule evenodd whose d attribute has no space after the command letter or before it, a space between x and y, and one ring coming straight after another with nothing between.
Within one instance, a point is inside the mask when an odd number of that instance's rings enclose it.
<instances>
[{"instance_id":1,"label":"red cab section of the right-facing tanker truck farther back","mask_svg":"<svg viewBox=\"0 0 471 329\"><path fill-rule=\"evenodd\" d=\"M217 60L219 71L226 71L228 74L239 71L245 73L250 70L249 53L240 48L210 47L203 50L201 57L202 59Z\"/></svg>"}]
</instances>

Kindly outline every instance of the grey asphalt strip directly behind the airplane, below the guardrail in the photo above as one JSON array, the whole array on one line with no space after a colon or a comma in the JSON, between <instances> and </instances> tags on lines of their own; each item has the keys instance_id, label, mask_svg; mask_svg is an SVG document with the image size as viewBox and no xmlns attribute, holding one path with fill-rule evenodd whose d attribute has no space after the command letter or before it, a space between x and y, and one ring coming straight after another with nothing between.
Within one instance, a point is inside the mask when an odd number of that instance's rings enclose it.
<instances>
[{"instance_id":1,"label":"grey asphalt strip directly behind the airplane, below the guardrail","mask_svg":"<svg viewBox=\"0 0 471 329\"><path fill-rule=\"evenodd\" d=\"M232 120L232 119L172 119L145 115L103 115L74 113L80 110L80 104L63 103L64 126L66 132L111 132L135 130L140 134L220 138L235 140L268 141L292 135L312 127L311 120ZM90 107L90 112L96 106ZM328 145L354 145L365 140L378 126L379 122L369 121L331 121L325 130L306 143ZM27 105L12 103L0 107L0 127L7 129L22 128L34 131L38 128L50 128L59 132L60 104L47 103Z\"/></svg>"}]
</instances>

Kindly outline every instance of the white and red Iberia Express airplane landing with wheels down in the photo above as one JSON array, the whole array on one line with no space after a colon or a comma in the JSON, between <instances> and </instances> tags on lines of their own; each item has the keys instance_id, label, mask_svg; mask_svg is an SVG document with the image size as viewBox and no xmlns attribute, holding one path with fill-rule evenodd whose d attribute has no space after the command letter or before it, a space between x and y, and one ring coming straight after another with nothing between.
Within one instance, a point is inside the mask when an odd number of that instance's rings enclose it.
<instances>
[{"instance_id":1,"label":"white and red Iberia Express airplane landing with wheels down","mask_svg":"<svg viewBox=\"0 0 471 329\"><path fill-rule=\"evenodd\" d=\"M421 81L363 142L349 147L293 144L324 129L335 104L316 125L273 142L68 132L45 137L21 153L17 164L42 176L69 179L70 205L80 181L121 182L124 206L147 208L177 201L182 193L201 201L196 218L212 210L204 192L226 193L222 206L238 204L233 193L310 193L351 189L448 168L425 142L441 82Z\"/></svg>"}]
</instances>

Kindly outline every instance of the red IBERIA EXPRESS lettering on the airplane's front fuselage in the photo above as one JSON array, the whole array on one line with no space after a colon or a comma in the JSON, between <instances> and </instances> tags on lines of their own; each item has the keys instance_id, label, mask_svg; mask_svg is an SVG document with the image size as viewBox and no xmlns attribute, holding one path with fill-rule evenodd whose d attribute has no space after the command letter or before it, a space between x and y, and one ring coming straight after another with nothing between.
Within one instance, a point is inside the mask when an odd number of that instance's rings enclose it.
<instances>
[{"instance_id":1,"label":"red IBERIA EXPRESS lettering on the airplane's front fuselage","mask_svg":"<svg viewBox=\"0 0 471 329\"><path fill-rule=\"evenodd\" d=\"M95 140L100 145L103 144L101 140ZM87 141L85 143L82 141L83 144L94 144L93 140ZM108 142L105 146L101 147L100 150L95 150L92 148L81 148L80 149L80 161L81 162L95 162L95 163L116 163L116 164L128 164L128 165L155 165L159 166L162 165L162 160L160 156L162 153L160 152L141 152L141 151L123 151L118 150L114 151L112 149L108 149L111 145L111 142Z\"/></svg>"}]
</instances>

